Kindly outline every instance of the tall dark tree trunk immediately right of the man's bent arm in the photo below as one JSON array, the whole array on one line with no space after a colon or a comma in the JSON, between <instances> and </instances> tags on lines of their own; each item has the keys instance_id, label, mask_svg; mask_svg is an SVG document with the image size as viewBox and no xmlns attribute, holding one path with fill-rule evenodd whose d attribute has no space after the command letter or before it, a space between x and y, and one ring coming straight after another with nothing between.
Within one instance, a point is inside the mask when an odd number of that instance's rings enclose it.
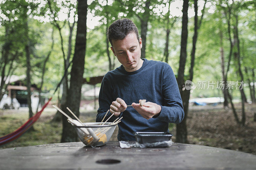
<instances>
[{"instance_id":1,"label":"tall dark tree trunk immediately right of the man's bent arm","mask_svg":"<svg viewBox=\"0 0 256 170\"><path fill-rule=\"evenodd\" d=\"M185 63L187 59L187 39L188 39L188 0L183 1L183 9L182 9L182 28L181 28L181 43L180 43L180 66L178 71L178 86L180 90L180 95L182 101L184 99L182 87L184 85L184 70ZM184 106L183 101L183 106ZM184 110L185 112L185 110ZM185 113L184 119L186 120L187 114ZM176 124L176 142L179 143L187 143L187 126L186 121L183 121L179 124Z\"/></svg>"}]
</instances>

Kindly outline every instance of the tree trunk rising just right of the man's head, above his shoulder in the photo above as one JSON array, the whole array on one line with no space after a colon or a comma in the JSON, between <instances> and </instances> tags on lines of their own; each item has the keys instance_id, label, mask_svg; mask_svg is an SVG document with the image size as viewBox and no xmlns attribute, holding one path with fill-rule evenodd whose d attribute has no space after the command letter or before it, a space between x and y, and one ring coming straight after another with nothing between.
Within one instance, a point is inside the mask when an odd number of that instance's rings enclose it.
<instances>
[{"instance_id":1,"label":"tree trunk rising just right of the man's head, above his shoulder","mask_svg":"<svg viewBox=\"0 0 256 170\"><path fill-rule=\"evenodd\" d=\"M143 17L140 18L141 22L141 39L142 39L142 48L141 48L141 57L146 57L146 38L147 38L147 31L148 31L148 19L149 19L149 6L151 0L146 0L145 2L145 12L143 13Z\"/></svg>"}]
</instances>

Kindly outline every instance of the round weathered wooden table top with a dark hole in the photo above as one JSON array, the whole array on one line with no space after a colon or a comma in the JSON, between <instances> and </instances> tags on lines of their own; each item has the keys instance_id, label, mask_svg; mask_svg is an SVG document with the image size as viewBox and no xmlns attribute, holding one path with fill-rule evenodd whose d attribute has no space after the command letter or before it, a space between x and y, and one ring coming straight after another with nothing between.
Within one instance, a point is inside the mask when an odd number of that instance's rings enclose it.
<instances>
[{"instance_id":1,"label":"round weathered wooden table top with a dark hole","mask_svg":"<svg viewBox=\"0 0 256 170\"><path fill-rule=\"evenodd\" d=\"M256 155L180 143L167 148L122 149L118 141L95 148L72 142L0 150L1 170L103 168L256 169Z\"/></svg>"}]
</instances>

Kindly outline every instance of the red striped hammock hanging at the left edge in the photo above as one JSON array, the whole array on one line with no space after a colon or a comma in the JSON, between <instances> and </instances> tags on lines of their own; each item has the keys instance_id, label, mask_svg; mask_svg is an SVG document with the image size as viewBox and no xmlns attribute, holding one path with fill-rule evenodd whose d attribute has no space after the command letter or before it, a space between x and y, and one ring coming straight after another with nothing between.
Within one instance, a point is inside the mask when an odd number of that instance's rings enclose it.
<instances>
[{"instance_id":1,"label":"red striped hammock hanging at the left edge","mask_svg":"<svg viewBox=\"0 0 256 170\"><path fill-rule=\"evenodd\" d=\"M44 104L44 106L42 107L42 109L39 112L37 112L34 116L29 118L26 123L24 123L22 126L20 126L19 129L13 131L12 133L10 133L8 135L0 137L0 146L4 145L4 144L7 144L9 142L12 142L13 140L15 140L18 137L20 137L21 135L23 135L37 121L37 119L39 118L39 116L43 112L44 108L49 104L49 102L51 100L52 100L52 98L50 98L48 100L48 102Z\"/></svg>"}]
</instances>

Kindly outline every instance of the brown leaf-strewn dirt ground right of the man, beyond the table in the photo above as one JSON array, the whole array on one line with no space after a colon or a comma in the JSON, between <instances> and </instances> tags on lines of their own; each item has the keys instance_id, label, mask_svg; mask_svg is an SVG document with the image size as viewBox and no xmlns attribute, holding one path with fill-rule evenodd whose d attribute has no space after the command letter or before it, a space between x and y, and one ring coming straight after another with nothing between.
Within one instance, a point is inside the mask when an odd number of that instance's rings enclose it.
<instances>
[{"instance_id":1,"label":"brown leaf-strewn dirt ground right of the man, beyond the table","mask_svg":"<svg viewBox=\"0 0 256 170\"><path fill-rule=\"evenodd\" d=\"M191 106L187 118L188 142L256 155L256 105L246 104L245 126L238 125L232 109ZM241 120L241 104L236 104ZM175 129L173 129L173 132Z\"/></svg>"}]
</instances>

